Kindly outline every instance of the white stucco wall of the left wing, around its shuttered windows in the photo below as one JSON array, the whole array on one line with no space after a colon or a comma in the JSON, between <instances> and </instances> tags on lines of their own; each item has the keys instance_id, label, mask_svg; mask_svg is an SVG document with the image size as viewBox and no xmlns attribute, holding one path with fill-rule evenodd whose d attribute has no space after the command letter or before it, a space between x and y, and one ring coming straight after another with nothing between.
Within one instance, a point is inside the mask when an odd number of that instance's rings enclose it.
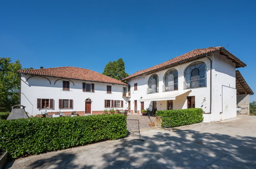
<instances>
[{"instance_id":1,"label":"white stucco wall of the left wing, around its shuttered windows","mask_svg":"<svg viewBox=\"0 0 256 169\"><path fill-rule=\"evenodd\" d=\"M35 116L41 112L70 112L70 111L85 111L85 100L90 98L91 111L103 111L105 109L104 100L123 100L124 107L118 109L128 109L127 101L122 97L123 87L125 85L113 85L109 83L100 83L100 82L89 82L89 81L80 81L72 80L70 82L70 91L63 91L63 80L54 81L59 78L48 77L50 82L42 77L32 77L28 81L26 79L30 75L21 76L21 104L26 106L26 111L29 115ZM83 82L94 83L94 93L83 92ZM112 86L111 94L107 94L107 85ZM127 90L128 91L128 90ZM53 109L37 109L37 98L46 98L54 99L54 108ZM73 99L73 109L59 109L58 108L58 99ZM109 109L109 108L108 108Z\"/></svg>"}]
</instances>

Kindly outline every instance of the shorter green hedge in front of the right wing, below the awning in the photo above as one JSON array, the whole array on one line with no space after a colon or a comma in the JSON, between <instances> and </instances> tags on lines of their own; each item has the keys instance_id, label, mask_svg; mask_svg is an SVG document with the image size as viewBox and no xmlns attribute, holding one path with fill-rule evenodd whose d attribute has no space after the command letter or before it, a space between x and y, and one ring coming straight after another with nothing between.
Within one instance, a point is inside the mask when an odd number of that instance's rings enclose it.
<instances>
[{"instance_id":1,"label":"shorter green hedge in front of the right wing, below the awning","mask_svg":"<svg viewBox=\"0 0 256 169\"><path fill-rule=\"evenodd\" d=\"M156 111L156 116L170 117L163 118L162 125L170 126L171 128L181 125L199 123L204 119L203 110L198 108Z\"/></svg>"}]
</instances>

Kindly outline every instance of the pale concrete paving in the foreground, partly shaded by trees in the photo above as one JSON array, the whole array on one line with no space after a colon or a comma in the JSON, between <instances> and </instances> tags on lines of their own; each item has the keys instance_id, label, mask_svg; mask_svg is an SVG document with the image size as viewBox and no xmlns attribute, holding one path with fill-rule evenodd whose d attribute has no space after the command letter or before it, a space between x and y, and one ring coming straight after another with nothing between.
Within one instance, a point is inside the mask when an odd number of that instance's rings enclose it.
<instances>
[{"instance_id":1,"label":"pale concrete paving in the foreground, partly shaded by trees","mask_svg":"<svg viewBox=\"0 0 256 169\"><path fill-rule=\"evenodd\" d=\"M173 128L16 159L6 168L256 168L256 116Z\"/></svg>"}]
</instances>

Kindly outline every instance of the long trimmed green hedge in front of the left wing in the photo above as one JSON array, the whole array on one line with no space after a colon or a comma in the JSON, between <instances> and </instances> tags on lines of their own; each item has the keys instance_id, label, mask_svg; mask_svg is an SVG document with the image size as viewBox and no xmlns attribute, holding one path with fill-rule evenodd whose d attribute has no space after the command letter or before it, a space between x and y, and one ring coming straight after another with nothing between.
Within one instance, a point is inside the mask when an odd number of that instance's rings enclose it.
<instances>
[{"instance_id":1,"label":"long trimmed green hedge in front of the left wing","mask_svg":"<svg viewBox=\"0 0 256 169\"><path fill-rule=\"evenodd\" d=\"M0 120L0 147L12 158L126 135L126 116L122 114Z\"/></svg>"}]
</instances>

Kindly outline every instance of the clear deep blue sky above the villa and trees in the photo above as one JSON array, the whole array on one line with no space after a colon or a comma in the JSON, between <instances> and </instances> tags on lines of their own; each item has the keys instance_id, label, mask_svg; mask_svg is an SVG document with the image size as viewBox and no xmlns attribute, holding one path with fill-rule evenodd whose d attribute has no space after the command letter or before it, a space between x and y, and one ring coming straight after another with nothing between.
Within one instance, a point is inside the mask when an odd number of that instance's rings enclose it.
<instances>
[{"instance_id":1,"label":"clear deep blue sky above the villa and trees","mask_svg":"<svg viewBox=\"0 0 256 169\"><path fill-rule=\"evenodd\" d=\"M0 1L0 57L24 68L74 66L126 71L193 49L223 46L256 93L255 1ZM255 94L256 95L256 94ZM256 100L251 96L251 101Z\"/></svg>"}]
</instances>

